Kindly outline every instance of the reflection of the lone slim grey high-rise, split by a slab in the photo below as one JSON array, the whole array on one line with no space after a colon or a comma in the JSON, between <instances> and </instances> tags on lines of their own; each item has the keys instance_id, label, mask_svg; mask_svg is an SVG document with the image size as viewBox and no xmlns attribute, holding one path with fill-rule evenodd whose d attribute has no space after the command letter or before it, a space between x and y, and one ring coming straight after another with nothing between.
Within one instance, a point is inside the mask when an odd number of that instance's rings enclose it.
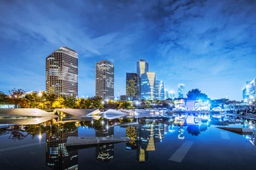
<instances>
[{"instance_id":1,"label":"reflection of the lone slim grey high-rise, split by a slab","mask_svg":"<svg viewBox=\"0 0 256 170\"><path fill-rule=\"evenodd\" d=\"M95 137L114 137L114 126L102 120L102 127L95 130ZM114 159L114 144L96 147L96 159L102 162L110 162Z\"/></svg>"}]
</instances>

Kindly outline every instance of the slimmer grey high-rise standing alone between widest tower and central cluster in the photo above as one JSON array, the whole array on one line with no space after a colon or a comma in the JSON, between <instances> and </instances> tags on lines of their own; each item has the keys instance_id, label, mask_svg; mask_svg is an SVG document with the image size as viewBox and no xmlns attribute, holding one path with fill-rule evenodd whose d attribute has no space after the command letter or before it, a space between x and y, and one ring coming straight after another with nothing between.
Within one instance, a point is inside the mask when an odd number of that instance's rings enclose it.
<instances>
[{"instance_id":1,"label":"slimmer grey high-rise standing alone between widest tower and central cluster","mask_svg":"<svg viewBox=\"0 0 256 170\"><path fill-rule=\"evenodd\" d=\"M114 99L114 65L107 61L101 60L95 65L96 70L96 87L95 96L105 99Z\"/></svg>"}]
</instances>

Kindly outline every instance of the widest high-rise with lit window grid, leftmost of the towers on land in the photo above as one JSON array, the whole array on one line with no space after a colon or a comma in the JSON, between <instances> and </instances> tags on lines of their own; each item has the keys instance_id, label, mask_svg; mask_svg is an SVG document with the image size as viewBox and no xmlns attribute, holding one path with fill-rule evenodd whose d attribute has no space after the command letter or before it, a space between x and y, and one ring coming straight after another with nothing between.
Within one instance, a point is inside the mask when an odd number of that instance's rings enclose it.
<instances>
[{"instance_id":1,"label":"widest high-rise with lit window grid, leftmost of the towers on land","mask_svg":"<svg viewBox=\"0 0 256 170\"><path fill-rule=\"evenodd\" d=\"M60 47L46 57L46 92L78 96L78 53Z\"/></svg>"}]
</instances>

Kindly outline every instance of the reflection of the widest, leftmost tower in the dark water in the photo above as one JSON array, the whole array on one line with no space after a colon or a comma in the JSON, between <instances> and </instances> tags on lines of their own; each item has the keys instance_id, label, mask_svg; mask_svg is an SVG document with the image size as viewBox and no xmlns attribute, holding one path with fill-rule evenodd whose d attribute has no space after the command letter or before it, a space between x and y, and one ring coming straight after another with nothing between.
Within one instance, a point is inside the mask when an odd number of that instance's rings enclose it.
<instances>
[{"instance_id":1,"label":"reflection of the widest, leftmost tower in the dark water","mask_svg":"<svg viewBox=\"0 0 256 170\"><path fill-rule=\"evenodd\" d=\"M52 169L78 169L78 150L70 151L65 145L69 136L78 136L75 123L51 125L46 132L46 164Z\"/></svg>"}]
</instances>

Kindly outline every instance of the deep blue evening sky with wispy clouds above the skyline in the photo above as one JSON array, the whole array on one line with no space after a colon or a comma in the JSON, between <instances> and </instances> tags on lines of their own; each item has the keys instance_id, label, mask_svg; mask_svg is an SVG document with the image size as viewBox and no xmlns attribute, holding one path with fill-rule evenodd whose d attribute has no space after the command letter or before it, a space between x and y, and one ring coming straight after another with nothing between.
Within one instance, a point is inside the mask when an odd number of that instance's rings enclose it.
<instances>
[{"instance_id":1,"label":"deep blue evening sky with wispy clouds above the skyline","mask_svg":"<svg viewBox=\"0 0 256 170\"><path fill-rule=\"evenodd\" d=\"M149 62L165 89L200 89L241 100L256 78L256 1L0 1L0 91L45 90L46 57L78 52L78 96L95 96L95 63L114 64L114 95L126 72Z\"/></svg>"}]
</instances>

